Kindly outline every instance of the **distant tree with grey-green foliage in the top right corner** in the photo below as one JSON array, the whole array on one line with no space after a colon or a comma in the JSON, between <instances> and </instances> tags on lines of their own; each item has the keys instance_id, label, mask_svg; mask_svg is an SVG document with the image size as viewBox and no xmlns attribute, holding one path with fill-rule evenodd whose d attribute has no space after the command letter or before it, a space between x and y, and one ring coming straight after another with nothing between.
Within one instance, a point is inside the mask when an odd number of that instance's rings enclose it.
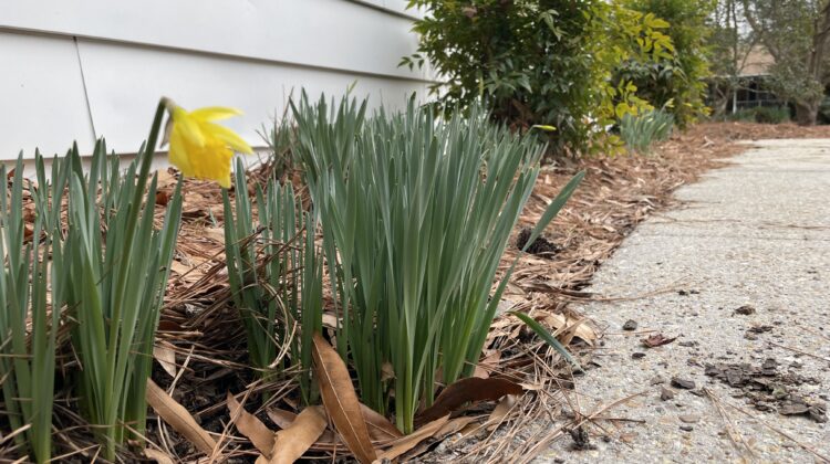
<instances>
[{"instance_id":1,"label":"distant tree with grey-green foliage in the top right corner","mask_svg":"<svg viewBox=\"0 0 830 464\"><path fill-rule=\"evenodd\" d=\"M796 106L796 120L813 125L828 84L828 0L741 0L747 23L772 55L771 83Z\"/></svg>"}]
</instances>

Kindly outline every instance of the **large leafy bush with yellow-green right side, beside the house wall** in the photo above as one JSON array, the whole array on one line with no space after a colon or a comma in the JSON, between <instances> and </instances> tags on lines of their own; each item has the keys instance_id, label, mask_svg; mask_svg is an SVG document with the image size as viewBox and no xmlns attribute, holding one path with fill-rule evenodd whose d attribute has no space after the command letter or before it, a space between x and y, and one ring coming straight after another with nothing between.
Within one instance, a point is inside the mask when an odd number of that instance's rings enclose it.
<instances>
[{"instance_id":1,"label":"large leafy bush with yellow-green right side, beside the house wall","mask_svg":"<svg viewBox=\"0 0 830 464\"><path fill-rule=\"evenodd\" d=\"M433 91L449 108L485 98L512 128L551 125L553 149L582 150L622 113L645 102L613 80L620 61L665 57L667 24L601 0L411 0L428 10L415 23L418 52L445 83Z\"/></svg>"}]
</instances>

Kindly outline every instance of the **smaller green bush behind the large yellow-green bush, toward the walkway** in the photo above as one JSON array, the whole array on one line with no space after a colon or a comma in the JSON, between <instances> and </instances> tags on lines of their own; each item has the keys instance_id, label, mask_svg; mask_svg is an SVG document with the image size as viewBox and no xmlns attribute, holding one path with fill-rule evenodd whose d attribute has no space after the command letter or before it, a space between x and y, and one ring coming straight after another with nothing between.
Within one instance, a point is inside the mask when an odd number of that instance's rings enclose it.
<instances>
[{"instance_id":1,"label":"smaller green bush behind the large yellow-green bush, toward the walkway","mask_svg":"<svg viewBox=\"0 0 830 464\"><path fill-rule=\"evenodd\" d=\"M636 95L656 107L666 107L675 123L686 127L708 114L704 103L705 78L709 76L706 40L707 20L714 10L713 0L622 0L622 3L643 14L654 14L667 21L674 54L662 60L626 60L618 70L618 77L632 82Z\"/></svg>"}]
</instances>

